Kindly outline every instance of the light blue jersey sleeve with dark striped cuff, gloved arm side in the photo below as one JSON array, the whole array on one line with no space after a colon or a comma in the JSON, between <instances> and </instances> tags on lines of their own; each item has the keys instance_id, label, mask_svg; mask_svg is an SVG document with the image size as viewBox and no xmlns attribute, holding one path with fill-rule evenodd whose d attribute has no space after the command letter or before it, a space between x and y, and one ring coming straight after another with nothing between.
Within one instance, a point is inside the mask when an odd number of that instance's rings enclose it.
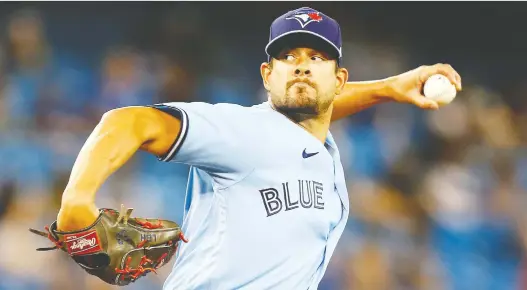
<instances>
[{"instance_id":1,"label":"light blue jersey sleeve with dark striped cuff, gloved arm side","mask_svg":"<svg viewBox=\"0 0 527 290\"><path fill-rule=\"evenodd\" d=\"M174 102L150 107L161 110L181 121L181 130L164 162L179 162L195 166L213 176L236 179L251 170L248 143L251 122L248 108L234 104Z\"/></svg>"}]
</instances>

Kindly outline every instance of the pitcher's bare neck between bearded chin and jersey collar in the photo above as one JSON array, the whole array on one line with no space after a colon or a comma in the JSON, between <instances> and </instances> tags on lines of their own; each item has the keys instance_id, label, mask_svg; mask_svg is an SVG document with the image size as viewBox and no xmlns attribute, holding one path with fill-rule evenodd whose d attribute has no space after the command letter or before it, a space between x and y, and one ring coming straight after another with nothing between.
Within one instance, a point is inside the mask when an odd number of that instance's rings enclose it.
<instances>
[{"instance_id":1,"label":"pitcher's bare neck between bearded chin and jersey collar","mask_svg":"<svg viewBox=\"0 0 527 290\"><path fill-rule=\"evenodd\" d=\"M320 142L325 143L328 135L329 126L331 124L331 113L333 112L333 104L329 108L316 116L307 116L306 114L298 114L291 116L277 110L271 103L271 106L279 113L286 116L292 122L298 124L311 135L315 136Z\"/></svg>"}]
</instances>

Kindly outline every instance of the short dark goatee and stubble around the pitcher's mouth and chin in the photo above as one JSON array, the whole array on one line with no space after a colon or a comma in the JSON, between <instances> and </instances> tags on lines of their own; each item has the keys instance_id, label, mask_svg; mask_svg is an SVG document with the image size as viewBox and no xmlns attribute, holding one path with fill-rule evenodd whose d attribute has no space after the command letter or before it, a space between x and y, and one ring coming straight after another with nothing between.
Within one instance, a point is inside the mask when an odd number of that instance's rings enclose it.
<instances>
[{"instance_id":1,"label":"short dark goatee and stubble around the pitcher's mouth and chin","mask_svg":"<svg viewBox=\"0 0 527 290\"><path fill-rule=\"evenodd\" d=\"M317 85L309 80L293 80L287 83L285 95L272 97L272 101L276 110L300 122L325 112L333 99L321 95Z\"/></svg>"}]
</instances>

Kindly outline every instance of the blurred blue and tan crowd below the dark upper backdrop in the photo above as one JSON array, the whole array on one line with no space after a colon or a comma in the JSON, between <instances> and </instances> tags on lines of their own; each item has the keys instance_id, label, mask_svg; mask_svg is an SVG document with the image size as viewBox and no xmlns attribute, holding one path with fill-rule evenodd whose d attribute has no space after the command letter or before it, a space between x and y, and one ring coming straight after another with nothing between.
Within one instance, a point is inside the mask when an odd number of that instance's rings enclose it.
<instances>
[{"instance_id":1,"label":"blurred blue and tan crowd below the dark upper backdrop","mask_svg":"<svg viewBox=\"0 0 527 290\"><path fill-rule=\"evenodd\" d=\"M65 255L36 252L48 242L27 231L56 218L73 162L105 111L265 101L258 67L243 65L254 53L229 49L221 35L204 37L196 7L178 11L162 20L155 45L116 39L91 58L52 41L38 10L7 18L0 39L0 290L113 289ZM117 33L105 29L86 37ZM360 34L344 40L344 55L353 57L343 65L354 80L413 68L403 44L378 45ZM255 51L265 60L263 47ZM526 119L524 108L471 82L438 111L383 104L334 123L351 215L319 289L527 287ZM138 153L104 184L97 204L124 203L135 215L181 222L187 173ZM160 289L170 268L127 288Z\"/></svg>"}]
</instances>

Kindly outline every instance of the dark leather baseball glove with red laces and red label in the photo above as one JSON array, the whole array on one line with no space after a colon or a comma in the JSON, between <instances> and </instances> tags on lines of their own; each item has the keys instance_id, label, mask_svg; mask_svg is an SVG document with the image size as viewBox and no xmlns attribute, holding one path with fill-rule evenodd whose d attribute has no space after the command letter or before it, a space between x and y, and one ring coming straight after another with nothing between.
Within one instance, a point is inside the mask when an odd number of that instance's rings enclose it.
<instances>
[{"instance_id":1,"label":"dark leather baseball glove with red laces and red label","mask_svg":"<svg viewBox=\"0 0 527 290\"><path fill-rule=\"evenodd\" d=\"M177 223L130 218L132 210L103 208L91 226L72 232L57 231L57 221L45 227L46 232L29 230L55 244L37 251L61 249L89 274L124 286L156 273L174 256L178 242L187 242Z\"/></svg>"}]
</instances>

